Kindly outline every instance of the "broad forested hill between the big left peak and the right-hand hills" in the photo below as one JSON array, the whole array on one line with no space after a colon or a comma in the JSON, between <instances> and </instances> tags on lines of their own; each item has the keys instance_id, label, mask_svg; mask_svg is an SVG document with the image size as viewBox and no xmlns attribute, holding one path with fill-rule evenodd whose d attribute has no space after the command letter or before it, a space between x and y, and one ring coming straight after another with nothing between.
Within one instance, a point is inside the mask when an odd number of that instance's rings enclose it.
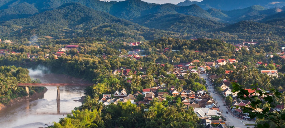
<instances>
[{"instance_id":1,"label":"broad forested hill between the big left peak and the right-hand hills","mask_svg":"<svg viewBox=\"0 0 285 128\"><path fill-rule=\"evenodd\" d=\"M214 20L207 20L196 16L177 13L155 13L136 18L134 22L148 28L173 31L182 34L191 34L195 32L221 28L227 25Z\"/></svg>"}]
</instances>

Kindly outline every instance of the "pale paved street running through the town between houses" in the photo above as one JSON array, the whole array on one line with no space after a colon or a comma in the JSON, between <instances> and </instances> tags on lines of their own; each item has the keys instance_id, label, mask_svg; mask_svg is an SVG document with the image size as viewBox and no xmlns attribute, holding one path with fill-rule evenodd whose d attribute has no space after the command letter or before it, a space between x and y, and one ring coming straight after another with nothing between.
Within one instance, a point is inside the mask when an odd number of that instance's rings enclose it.
<instances>
[{"instance_id":1,"label":"pale paved street running through the town between houses","mask_svg":"<svg viewBox=\"0 0 285 128\"><path fill-rule=\"evenodd\" d=\"M206 80L207 84L210 83L210 80L207 80L207 76L205 73L201 74L200 77L204 78ZM209 89L207 89L207 90L211 91L211 96L215 100L216 106L219 107L220 111L222 112L222 116L227 119L227 121L225 121L226 124L228 124L229 126L235 126L235 128L246 128L247 126L243 125L243 123L241 122L241 121L245 121L245 120L240 120L236 117L233 117L232 114L230 115L229 113L226 113L229 110L226 108L226 106L223 106L225 101L222 100L221 96L219 96L218 94L215 94L215 92L213 92L214 91L213 87L214 86L209 86ZM248 121L248 122L251 124L255 124L255 122L253 122L253 121Z\"/></svg>"}]
</instances>

